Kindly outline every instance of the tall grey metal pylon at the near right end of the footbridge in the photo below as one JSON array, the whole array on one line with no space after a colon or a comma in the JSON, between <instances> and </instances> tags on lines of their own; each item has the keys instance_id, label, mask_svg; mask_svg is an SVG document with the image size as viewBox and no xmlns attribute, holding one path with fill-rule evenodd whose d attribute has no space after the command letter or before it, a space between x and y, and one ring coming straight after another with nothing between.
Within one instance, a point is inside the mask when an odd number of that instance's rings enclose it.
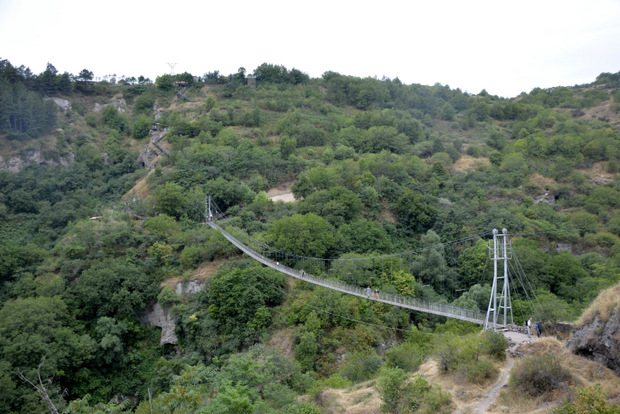
<instances>
[{"instance_id":1,"label":"tall grey metal pylon at the near right end of the footbridge","mask_svg":"<svg viewBox=\"0 0 620 414\"><path fill-rule=\"evenodd\" d=\"M489 246L489 250L493 260L493 287L491 288L484 329L497 330L498 326L506 327L508 322L513 323L508 282L508 231L506 229L502 229L502 234L499 234L497 229L493 229L493 247ZM502 275L498 274L497 269L497 262L500 260L504 262ZM501 317L501 323L498 323L498 315Z\"/></svg>"}]
</instances>

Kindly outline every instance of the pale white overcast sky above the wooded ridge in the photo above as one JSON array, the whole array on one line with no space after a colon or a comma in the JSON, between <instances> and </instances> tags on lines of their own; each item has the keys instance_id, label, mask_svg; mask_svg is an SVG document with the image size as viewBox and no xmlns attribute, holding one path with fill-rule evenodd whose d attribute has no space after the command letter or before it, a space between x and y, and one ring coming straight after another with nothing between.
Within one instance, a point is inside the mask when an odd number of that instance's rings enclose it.
<instances>
[{"instance_id":1,"label":"pale white overcast sky above the wooded ridge","mask_svg":"<svg viewBox=\"0 0 620 414\"><path fill-rule=\"evenodd\" d=\"M620 0L0 0L0 58L155 79L261 63L514 97L620 71Z\"/></svg>"}]
</instances>

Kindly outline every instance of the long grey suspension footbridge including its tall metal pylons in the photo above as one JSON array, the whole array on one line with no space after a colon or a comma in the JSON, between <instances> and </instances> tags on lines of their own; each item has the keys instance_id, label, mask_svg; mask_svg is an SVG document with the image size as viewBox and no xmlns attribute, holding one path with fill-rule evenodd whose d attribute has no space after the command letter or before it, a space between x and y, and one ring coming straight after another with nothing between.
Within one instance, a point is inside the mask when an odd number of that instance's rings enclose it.
<instances>
[{"instance_id":1,"label":"long grey suspension footbridge including its tall metal pylons","mask_svg":"<svg viewBox=\"0 0 620 414\"><path fill-rule=\"evenodd\" d=\"M210 197L205 200L205 204L205 219L208 226L219 231L226 240L252 259L285 275L322 286L327 289L365 298L367 300L373 300L414 311L476 323L483 325L484 329L506 329L510 325L514 324L510 298L510 282L508 277L508 262L510 259L511 249L509 249L510 243L506 229L503 229L501 233L498 230L493 230L493 241L489 245L489 252L491 259L493 260L494 277L491 288L491 296L489 298L489 306L485 312L478 309L464 308L398 294L370 291L369 288L363 288L360 286L347 284L339 280L309 274L305 272L303 268L300 269L289 267L283 263L280 263L277 259L274 260L274 258L264 255L256 248L250 247L247 243L242 242L238 237L235 237L226 231L215 222ZM217 216L219 217L222 215L218 214ZM264 244L258 246L261 251L266 250L266 247L268 246ZM299 256L297 257L299 258ZM500 269L500 263L503 265L503 269ZM525 286L523 286L523 288L525 289Z\"/></svg>"}]
</instances>

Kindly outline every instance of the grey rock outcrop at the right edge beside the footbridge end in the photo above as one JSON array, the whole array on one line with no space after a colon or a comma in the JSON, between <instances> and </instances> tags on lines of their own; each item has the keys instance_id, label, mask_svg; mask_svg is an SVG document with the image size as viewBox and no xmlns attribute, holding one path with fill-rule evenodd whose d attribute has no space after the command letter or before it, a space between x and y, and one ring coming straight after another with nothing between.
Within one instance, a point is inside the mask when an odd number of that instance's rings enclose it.
<instances>
[{"instance_id":1,"label":"grey rock outcrop at the right edge beside the footbridge end","mask_svg":"<svg viewBox=\"0 0 620 414\"><path fill-rule=\"evenodd\" d=\"M614 310L607 321L596 315L569 339L568 349L620 375L620 311Z\"/></svg>"}]
</instances>

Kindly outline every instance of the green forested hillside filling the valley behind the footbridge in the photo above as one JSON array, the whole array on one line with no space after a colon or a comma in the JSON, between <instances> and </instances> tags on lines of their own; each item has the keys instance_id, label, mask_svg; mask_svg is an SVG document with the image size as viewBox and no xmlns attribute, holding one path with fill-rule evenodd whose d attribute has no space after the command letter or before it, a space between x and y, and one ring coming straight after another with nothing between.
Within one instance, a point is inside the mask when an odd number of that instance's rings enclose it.
<instances>
[{"instance_id":1,"label":"green forested hillside filling the valley behind the footbridge","mask_svg":"<svg viewBox=\"0 0 620 414\"><path fill-rule=\"evenodd\" d=\"M93 82L0 61L0 413L321 413L325 387L369 379L390 412L451 412L407 378L433 357L492 382L501 335L287 280L202 224L205 196L275 249L367 264L314 274L473 309L493 275L476 235L506 228L550 325L620 279L619 128L620 72L502 99L266 63ZM143 322L155 303L176 344Z\"/></svg>"}]
</instances>

